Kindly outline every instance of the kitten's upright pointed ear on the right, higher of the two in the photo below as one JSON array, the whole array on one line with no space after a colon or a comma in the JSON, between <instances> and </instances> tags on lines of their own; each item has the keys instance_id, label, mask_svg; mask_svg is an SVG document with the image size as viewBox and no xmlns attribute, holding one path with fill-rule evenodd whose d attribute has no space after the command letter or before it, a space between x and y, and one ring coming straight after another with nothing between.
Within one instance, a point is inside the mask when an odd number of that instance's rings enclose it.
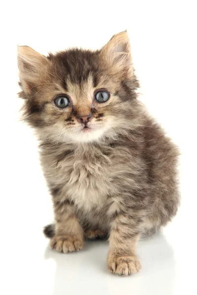
<instances>
[{"instance_id":1,"label":"kitten's upright pointed ear on the right, higher of the two","mask_svg":"<svg viewBox=\"0 0 197 295\"><path fill-rule=\"evenodd\" d=\"M131 45L127 31L114 35L101 49L101 55L117 73L132 76Z\"/></svg>"}]
</instances>

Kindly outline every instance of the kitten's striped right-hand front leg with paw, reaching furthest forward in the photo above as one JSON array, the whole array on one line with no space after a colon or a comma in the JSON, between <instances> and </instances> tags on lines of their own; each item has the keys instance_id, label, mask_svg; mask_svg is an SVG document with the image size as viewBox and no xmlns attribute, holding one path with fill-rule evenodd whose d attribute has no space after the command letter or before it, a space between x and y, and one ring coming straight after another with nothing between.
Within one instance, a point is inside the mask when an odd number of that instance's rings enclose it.
<instances>
[{"instance_id":1,"label":"kitten's striped right-hand front leg with paw, reaching furthest forward","mask_svg":"<svg viewBox=\"0 0 197 295\"><path fill-rule=\"evenodd\" d=\"M140 263L136 257L139 239L137 226L129 216L118 215L111 223L107 268L119 275L136 273Z\"/></svg>"}]
</instances>

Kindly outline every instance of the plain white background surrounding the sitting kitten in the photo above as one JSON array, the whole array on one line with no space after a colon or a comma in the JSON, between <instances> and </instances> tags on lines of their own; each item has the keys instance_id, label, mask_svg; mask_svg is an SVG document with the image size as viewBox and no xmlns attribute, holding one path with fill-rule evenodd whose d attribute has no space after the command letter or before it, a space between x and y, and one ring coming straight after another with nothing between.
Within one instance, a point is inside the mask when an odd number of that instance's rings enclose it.
<instances>
[{"instance_id":1,"label":"plain white background surrounding the sitting kitten","mask_svg":"<svg viewBox=\"0 0 197 295\"><path fill-rule=\"evenodd\" d=\"M0 294L196 294L196 1L6 1L0 4ZM48 248L52 204L33 131L18 121L16 45L46 54L97 49L128 29L140 99L182 152L182 205L158 236L140 241L140 273L107 273L107 242L79 253Z\"/></svg>"}]
</instances>

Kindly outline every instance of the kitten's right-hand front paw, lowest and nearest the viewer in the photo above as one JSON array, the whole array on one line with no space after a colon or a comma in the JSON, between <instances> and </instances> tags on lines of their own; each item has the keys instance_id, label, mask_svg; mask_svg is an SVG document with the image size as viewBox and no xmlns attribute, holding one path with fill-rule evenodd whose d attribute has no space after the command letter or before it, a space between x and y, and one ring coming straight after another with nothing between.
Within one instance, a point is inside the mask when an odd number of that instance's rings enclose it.
<instances>
[{"instance_id":1,"label":"kitten's right-hand front paw, lowest and nearest the viewer","mask_svg":"<svg viewBox=\"0 0 197 295\"><path fill-rule=\"evenodd\" d=\"M110 272L115 274L129 275L138 272L141 265L135 255L116 256L111 254L107 258L107 268Z\"/></svg>"}]
</instances>

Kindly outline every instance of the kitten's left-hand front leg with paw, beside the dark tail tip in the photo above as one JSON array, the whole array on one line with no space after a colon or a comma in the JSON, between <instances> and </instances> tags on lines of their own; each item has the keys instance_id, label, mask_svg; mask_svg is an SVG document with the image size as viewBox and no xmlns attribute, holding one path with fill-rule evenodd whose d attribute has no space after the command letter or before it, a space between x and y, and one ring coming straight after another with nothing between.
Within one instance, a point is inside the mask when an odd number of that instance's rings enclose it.
<instances>
[{"instance_id":1,"label":"kitten's left-hand front leg with paw, beside the dark tail tip","mask_svg":"<svg viewBox=\"0 0 197 295\"><path fill-rule=\"evenodd\" d=\"M56 231L51 248L63 253L79 251L84 247L84 234L73 205L68 201L54 201Z\"/></svg>"}]
</instances>

